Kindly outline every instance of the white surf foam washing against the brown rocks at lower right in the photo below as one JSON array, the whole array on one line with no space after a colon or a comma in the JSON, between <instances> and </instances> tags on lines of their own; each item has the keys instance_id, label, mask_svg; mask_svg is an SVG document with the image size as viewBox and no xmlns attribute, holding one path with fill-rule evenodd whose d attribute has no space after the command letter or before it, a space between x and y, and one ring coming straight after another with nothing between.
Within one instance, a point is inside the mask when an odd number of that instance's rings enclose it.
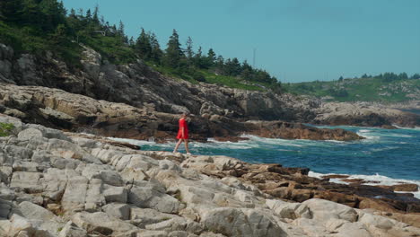
<instances>
[{"instance_id":1,"label":"white surf foam washing against the brown rocks at lower right","mask_svg":"<svg viewBox=\"0 0 420 237\"><path fill-rule=\"evenodd\" d=\"M363 183L364 185L372 185L372 186L378 186L378 185L386 185L386 186L392 186L397 185L401 183L414 183L420 187L420 180L403 180L403 179L392 179L387 176L380 175L376 173L375 175L363 175L363 174L338 174L338 173L319 173L310 171L308 176L315 177L318 179L322 179L322 176L326 175L348 175L349 177L346 179L362 179L365 180L366 183ZM340 184L349 184L349 182L343 181L342 179L330 179L329 181L340 183ZM399 192L399 193L412 193L416 198L420 199L420 189L417 189L416 192Z\"/></svg>"}]
</instances>

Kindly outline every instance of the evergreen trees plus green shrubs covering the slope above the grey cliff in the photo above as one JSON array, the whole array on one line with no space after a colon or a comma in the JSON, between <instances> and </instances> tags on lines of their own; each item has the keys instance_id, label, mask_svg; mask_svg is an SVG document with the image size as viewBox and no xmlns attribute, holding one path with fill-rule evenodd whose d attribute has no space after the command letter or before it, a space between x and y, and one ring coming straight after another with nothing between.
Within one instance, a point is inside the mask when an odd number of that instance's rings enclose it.
<instances>
[{"instance_id":1,"label":"evergreen trees plus green shrubs covering the slope above the grey cliff","mask_svg":"<svg viewBox=\"0 0 420 237\"><path fill-rule=\"evenodd\" d=\"M79 66L80 43L100 52L103 60L127 64L142 58L146 64L164 75L192 83L219 83L248 90L273 89L281 92L281 84L267 71L250 66L238 58L216 55L213 48L193 50L193 41L183 47L173 30L162 49L156 35L141 30L138 38L128 39L123 22L110 25L99 15L99 6L85 13L67 12L57 0L4 0L0 2L0 40L16 53L38 55L50 51L70 67Z\"/></svg>"}]
</instances>

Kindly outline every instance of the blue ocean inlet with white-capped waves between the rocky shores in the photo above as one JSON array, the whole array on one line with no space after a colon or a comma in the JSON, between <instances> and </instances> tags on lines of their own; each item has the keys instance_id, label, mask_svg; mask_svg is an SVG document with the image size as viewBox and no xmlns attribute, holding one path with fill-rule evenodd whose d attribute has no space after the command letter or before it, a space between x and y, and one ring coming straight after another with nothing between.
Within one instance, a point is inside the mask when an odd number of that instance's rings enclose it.
<instances>
[{"instance_id":1,"label":"blue ocean inlet with white-capped waves between the rocky shores","mask_svg":"<svg viewBox=\"0 0 420 237\"><path fill-rule=\"evenodd\" d=\"M244 162L281 163L286 167L308 167L310 176L347 174L349 179L372 181L372 185L401 182L420 186L420 128L381 129L375 127L338 126L366 139L353 142L270 139L247 136L239 143L191 142L192 154L227 155ZM335 127L327 127L335 128ZM142 150L172 151L174 143L113 138ZM185 153L184 146L179 152ZM331 181L343 182L333 179ZM367 183L370 184L370 183ZM420 191L415 192L420 198Z\"/></svg>"}]
</instances>

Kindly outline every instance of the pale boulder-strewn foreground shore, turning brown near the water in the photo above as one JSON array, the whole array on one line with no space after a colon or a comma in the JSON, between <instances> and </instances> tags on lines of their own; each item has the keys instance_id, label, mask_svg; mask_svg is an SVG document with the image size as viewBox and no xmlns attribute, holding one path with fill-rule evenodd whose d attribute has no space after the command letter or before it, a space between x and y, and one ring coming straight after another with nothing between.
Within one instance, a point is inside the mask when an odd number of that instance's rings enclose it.
<instances>
[{"instance_id":1,"label":"pale boulder-strewn foreground shore, turning brown near the water","mask_svg":"<svg viewBox=\"0 0 420 237\"><path fill-rule=\"evenodd\" d=\"M1 236L420 235L420 200L390 189L0 122Z\"/></svg>"}]
</instances>

